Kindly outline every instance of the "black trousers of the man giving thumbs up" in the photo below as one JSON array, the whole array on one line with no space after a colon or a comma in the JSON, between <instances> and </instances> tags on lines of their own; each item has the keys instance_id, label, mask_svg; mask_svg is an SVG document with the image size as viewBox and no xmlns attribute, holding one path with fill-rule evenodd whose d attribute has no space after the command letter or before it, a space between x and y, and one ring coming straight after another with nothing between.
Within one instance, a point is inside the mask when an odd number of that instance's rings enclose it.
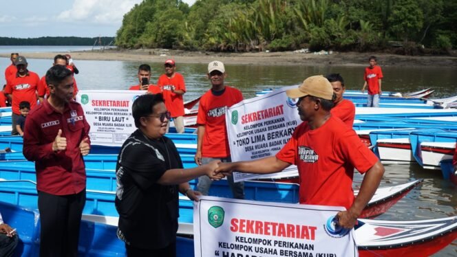
<instances>
[{"instance_id":1,"label":"black trousers of the man giving thumbs up","mask_svg":"<svg viewBox=\"0 0 457 257\"><path fill-rule=\"evenodd\" d=\"M85 190L54 195L38 191L40 256L78 256L79 226L85 205Z\"/></svg>"}]
</instances>

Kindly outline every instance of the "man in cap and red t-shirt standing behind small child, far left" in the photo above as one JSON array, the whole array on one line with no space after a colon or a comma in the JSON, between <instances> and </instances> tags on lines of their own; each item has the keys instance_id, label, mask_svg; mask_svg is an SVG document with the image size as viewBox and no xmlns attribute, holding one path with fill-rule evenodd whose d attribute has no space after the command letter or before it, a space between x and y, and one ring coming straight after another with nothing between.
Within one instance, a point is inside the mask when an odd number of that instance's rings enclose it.
<instances>
[{"instance_id":1,"label":"man in cap and red t-shirt standing behind small child, far left","mask_svg":"<svg viewBox=\"0 0 457 257\"><path fill-rule=\"evenodd\" d=\"M17 73L10 76L6 81L5 94L12 103L12 131L11 135L19 135L16 130L16 122L21 111L19 103L22 101L30 102L30 108L36 106L36 89L40 78L36 73L27 69L28 63L24 56L18 56L14 63L17 67Z\"/></svg>"}]
</instances>

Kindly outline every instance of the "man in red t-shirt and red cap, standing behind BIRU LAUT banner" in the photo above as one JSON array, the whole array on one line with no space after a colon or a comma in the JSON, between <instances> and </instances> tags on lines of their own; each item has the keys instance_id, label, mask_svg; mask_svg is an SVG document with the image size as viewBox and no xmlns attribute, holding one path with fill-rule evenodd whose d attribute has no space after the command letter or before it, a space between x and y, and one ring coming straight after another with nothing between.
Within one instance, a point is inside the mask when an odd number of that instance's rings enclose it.
<instances>
[{"instance_id":1,"label":"man in red t-shirt and red cap, standing behind BIRU LAUT banner","mask_svg":"<svg viewBox=\"0 0 457 257\"><path fill-rule=\"evenodd\" d=\"M182 96L186 93L186 85L182 75L176 72L174 60L165 61L165 74L159 77L157 85L162 89L163 99L167 110L171 113L171 118L173 118L176 132L184 133L184 100L182 100Z\"/></svg>"}]
</instances>

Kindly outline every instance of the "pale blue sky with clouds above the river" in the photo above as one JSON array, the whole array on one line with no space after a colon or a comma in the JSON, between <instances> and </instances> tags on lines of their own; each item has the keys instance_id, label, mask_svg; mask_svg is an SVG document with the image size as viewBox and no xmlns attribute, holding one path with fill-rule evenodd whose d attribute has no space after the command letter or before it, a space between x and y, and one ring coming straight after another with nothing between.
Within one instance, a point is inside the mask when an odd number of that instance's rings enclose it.
<instances>
[{"instance_id":1,"label":"pale blue sky with clouds above the river","mask_svg":"<svg viewBox=\"0 0 457 257\"><path fill-rule=\"evenodd\" d=\"M141 1L0 0L0 36L116 36L124 14Z\"/></svg>"}]
</instances>

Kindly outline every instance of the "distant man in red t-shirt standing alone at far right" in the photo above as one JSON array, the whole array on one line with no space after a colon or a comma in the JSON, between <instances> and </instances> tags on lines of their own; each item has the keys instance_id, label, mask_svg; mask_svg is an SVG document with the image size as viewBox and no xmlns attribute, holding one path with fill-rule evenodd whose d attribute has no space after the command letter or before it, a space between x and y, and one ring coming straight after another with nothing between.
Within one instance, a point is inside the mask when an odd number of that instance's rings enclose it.
<instances>
[{"instance_id":1,"label":"distant man in red t-shirt standing alone at far right","mask_svg":"<svg viewBox=\"0 0 457 257\"><path fill-rule=\"evenodd\" d=\"M377 60L375 56L370 56L368 61L370 62L370 66L365 68L365 75L363 76L365 83L362 87L362 93L368 85L367 107L379 107L379 99L383 93L381 90L383 71L381 71L381 67L376 65Z\"/></svg>"}]
</instances>

